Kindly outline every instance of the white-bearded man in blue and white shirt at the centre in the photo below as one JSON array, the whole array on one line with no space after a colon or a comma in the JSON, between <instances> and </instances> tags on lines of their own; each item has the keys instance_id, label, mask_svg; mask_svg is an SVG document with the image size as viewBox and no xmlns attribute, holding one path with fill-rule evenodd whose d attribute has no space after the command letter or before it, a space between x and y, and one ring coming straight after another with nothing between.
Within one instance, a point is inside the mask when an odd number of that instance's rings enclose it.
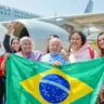
<instances>
[{"instance_id":1,"label":"white-bearded man in blue and white shirt at the centre","mask_svg":"<svg viewBox=\"0 0 104 104\"><path fill-rule=\"evenodd\" d=\"M58 38L50 39L48 44L49 44L50 53L48 53L41 57L42 62L47 62L47 63L50 63L53 65L64 65L64 64L69 63L60 53L61 48L62 48L62 43L61 43L61 40Z\"/></svg>"}]
</instances>

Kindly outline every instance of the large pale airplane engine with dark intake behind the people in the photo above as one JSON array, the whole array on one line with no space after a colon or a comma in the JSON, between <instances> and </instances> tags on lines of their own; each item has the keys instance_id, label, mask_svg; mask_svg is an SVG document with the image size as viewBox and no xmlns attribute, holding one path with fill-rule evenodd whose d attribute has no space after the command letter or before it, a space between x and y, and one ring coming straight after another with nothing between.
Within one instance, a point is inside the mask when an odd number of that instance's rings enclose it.
<instances>
[{"instance_id":1,"label":"large pale airplane engine with dark intake behind the people","mask_svg":"<svg viewBox=\"0 0 104 104\"><path fill-rule=\"evenodd\" d=\"M57 35L62 40L64 48L68 48L69 34L61 27L53 24L36 20L17 20L15 21L13 35L16 37L30 37L35 42L35 50L46 51L48 38L50 35Z\"/></svg>"}]
</instances>

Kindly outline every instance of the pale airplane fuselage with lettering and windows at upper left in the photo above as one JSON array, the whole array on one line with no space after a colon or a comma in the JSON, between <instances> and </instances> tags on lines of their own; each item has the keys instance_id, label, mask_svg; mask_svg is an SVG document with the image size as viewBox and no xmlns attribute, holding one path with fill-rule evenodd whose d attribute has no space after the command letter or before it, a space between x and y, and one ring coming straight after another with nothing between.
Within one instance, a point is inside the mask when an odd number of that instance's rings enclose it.
<instances>
[{"instance_id":1,"label":"pale airplane fuselage with lettering and windows at upper left","mask_svg":"<svg viewBox=\"0 0 104 104\"><path fill-rule=\"evenodd\" d=\"M39 18L39 17L41 16L0 4L0 22L13 21L18 18L22 20L22 18Z\"/></svg>"}]
</instances>

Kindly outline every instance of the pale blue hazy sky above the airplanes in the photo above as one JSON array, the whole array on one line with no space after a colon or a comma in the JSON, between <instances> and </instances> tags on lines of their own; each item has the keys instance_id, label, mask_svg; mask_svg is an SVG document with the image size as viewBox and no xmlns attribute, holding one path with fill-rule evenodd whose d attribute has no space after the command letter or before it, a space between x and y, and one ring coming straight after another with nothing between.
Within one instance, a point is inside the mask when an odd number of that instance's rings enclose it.
<instances>
[{"instance_id":1,"label":"pale blue hazy sky above the airplanes","mask_svg":"<svg viewBox=\"0 0 104 104\"><path fill-rule=\"evenodd\" d=\"M92 0L93 12L104 12L104 0ZM0 4L41 16L82 14L89 0L0 0Z\"/></svg>"}]
</instances>

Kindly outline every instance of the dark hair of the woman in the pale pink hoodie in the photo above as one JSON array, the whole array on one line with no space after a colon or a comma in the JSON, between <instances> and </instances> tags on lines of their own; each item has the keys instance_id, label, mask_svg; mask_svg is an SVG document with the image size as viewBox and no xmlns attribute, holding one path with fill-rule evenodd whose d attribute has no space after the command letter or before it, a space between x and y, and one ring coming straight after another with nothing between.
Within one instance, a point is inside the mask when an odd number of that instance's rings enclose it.
<instances>
[{"instance_id":1,"label":"dark hair of the woman in the pale pink hoodie","mask_svg":"<svg viewBox=\"0 0 104 104\"><path fill-rule=\"evenodd\" d=\"M86 35L84 35L81 30L74 30L74 31L69 35L68 41L70 41L72 36L73 36L74 34L78 34L78 35L80 36L81 41L82 41L82 44L81 44L81 46L83 46L83 44L87 42L87 37L86 37ZM69 46L69 48L68 48L68 52L70 52L70 46Z\"/></svg>"}]
</instances>

